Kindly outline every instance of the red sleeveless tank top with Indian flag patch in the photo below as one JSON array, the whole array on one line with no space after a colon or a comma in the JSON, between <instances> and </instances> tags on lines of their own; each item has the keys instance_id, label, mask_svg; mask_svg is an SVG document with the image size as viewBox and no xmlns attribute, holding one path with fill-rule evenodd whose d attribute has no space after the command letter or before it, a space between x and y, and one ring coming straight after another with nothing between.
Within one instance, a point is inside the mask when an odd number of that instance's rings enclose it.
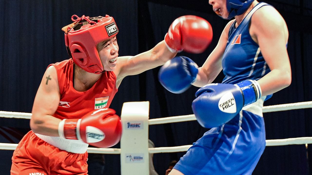
<instances>
[{"instance_id":1,"label":"red sleeveless tank top with Indian flag patch","mask_svg":"<svg viewBox=\"0 0 312 175\"><path fill-rule=\"evenodd\" d=\"M61 99L53 115L59 119L81 118L90 111L108 108L118 89L116 75L112 71L102 73L100 79L84 92L74 89L73 69L74 61L67 59L59 63L50 64L56 68Z\"/></svg>"}]
</instances>

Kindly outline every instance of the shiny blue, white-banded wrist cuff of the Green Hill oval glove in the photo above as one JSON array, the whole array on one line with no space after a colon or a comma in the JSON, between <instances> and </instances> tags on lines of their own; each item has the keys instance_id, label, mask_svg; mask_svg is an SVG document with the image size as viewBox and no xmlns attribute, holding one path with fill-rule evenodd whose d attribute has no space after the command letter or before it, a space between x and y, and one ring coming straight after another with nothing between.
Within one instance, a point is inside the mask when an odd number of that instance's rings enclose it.
<instances>
[{"instance_id":1,"label":"shiny blue, white-banded wrist cuff of the Green Hill oval glove","mask_svg":"<svg viewBox=\"0 0 312 175\"><path fill-rule=\"evenodd\" d=\"M256 80L247 80L237 83L240 87L243 98L244 106L256 102L261 97L261 87Z\"/></svg>"}]
</instances>

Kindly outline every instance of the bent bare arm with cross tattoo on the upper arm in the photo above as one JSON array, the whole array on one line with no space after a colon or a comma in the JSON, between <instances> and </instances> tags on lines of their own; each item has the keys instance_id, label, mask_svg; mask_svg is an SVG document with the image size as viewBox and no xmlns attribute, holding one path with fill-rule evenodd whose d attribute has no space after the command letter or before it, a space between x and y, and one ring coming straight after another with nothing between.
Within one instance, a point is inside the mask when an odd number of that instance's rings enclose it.
<instances>
[{"instance_id":1,"label":"bent bare arm with cross tattoo on the upper arm","mask_svg":"<svg viewBox=\"0 0 312 175\"><path fill-rule=\"evenodd\" d=\"M59 136L58 125L61 120L52 116L59 102L60 92L56 69L54 66L50 66L43 75L32 106L30 128L33 132L48 136Z\"/></svg>"}]
</instances>

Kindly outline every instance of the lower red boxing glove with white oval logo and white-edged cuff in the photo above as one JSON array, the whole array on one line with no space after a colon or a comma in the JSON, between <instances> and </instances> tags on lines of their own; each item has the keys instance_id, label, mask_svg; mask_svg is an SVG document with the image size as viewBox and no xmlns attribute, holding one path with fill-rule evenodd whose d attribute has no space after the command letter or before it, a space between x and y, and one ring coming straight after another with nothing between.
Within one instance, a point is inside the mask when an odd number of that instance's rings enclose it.
<instances>
[{"instance_id":1,"label":"lower red boxing glove with white oval logo and white-edged cuff","mask_svg":"<svg viewBox=\"0 0 312 175\"><path fill-rule=\"evenodd\" d=\"M64 119L59 135L65 139L82 140L98 148L114 146L121 138L121 122L115 110L103 108L91 111L81 119Z\"/></svg>"}]
</instances>

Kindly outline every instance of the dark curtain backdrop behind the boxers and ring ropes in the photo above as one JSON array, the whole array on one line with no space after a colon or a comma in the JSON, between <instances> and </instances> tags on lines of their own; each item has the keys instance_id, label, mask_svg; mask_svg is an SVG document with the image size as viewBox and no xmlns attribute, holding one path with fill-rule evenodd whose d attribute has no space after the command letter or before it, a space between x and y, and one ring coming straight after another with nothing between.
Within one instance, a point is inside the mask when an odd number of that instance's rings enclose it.
<instances>
[{"instance_id":1,"label":"dark curtain backdrop behind the boxers and ring ropes","mask_svg":"<svg viewBox=\"0 0 312 175\"><path fill-rule=\"evenodd\" d=\"M267 105L312 100L310 67L312 60L310 0L269 1L289 28L288 53L292 84L265 102ZM119 55L136 55L161 41L171 22L182 15L207 19L213 28L211 46L202 54L180 53L202 65L216 46L228 22L217 17L207 0L0 0L0 110L31 112L32 103L46 67L67 59L61 28L71 16L90 17L109 14L119 27ZM149 101L150 119L192 114L191 103L197 87L183 94L166 91L158 82L159 68L126 77L111 104L120 115L123 102ZM222 73L215 82L221 82ZM264 113L266 139L312 136L312 110L300 109ZM18 143L29 130L29 120L0 118L0 142ZM156 147L192 144L207 129L196 121L151 125L149 138ZM119 144L114 148L119 148ZM0 174L9 174L13 151L1 150ZM185 152L154 154L156 171L164 174L168 163ZM119 155L106 154L106 174L120 174ZM312 149L308 145L266 147L253 174L312 174ZM309 173L310 172L310 173Z\"/></svg>"}]
</instances>

